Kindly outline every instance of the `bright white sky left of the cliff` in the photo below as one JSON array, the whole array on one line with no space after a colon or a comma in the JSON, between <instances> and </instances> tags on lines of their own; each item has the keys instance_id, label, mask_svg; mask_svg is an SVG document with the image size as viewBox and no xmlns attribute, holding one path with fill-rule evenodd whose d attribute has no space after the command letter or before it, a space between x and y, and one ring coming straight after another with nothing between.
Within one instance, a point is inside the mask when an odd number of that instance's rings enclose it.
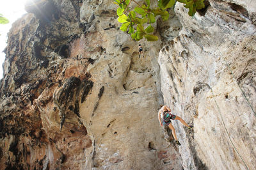
<instances>
[{"instance_id":1,"label":"bright white sky left of the cliff","mask_svg":"<svg viewBox=\"0 0 256 170\"><path fill-rule=\"evenodd\" d=\"M9 20L8 24L0 24L0 79L3 78L3 63L5 54L3 52L6 47L7 33L12 27L12 23L26 13L24 4L26 0L1 0L0 13Z\"/></svg>"}]
</instances>

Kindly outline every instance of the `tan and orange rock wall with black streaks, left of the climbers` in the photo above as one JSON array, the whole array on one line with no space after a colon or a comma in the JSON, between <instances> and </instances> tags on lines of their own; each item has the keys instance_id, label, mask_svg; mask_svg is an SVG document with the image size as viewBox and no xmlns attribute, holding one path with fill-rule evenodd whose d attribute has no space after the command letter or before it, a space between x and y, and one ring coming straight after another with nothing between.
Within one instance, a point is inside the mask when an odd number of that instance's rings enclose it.
<instances>
[{"instance_id":1,"label":"tan and orange rock wall with black streaks, left of the climbers","mask_svg":"<svg viewBox=\"0 0 256 170\"><path fill-rule=\"evenodd\" d=\"M120 31L112 1L26 10L9 33L1 80L1 167L182 169L157 120L159 42Z\"/></svg>"}]
</instances>

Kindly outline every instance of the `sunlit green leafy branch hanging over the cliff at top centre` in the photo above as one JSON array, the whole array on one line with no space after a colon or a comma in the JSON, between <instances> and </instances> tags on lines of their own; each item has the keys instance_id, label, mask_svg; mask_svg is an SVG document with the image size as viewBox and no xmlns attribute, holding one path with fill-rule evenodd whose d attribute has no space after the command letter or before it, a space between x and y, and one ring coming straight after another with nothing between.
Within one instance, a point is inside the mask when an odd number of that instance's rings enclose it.
<instances>
[{"instance_id":1,"label":"sunlit green leafy branch hanging over the cliff at top centre","mask_svg":"<svg viewBox=\"0 0 256 170\"><path fill-rule=\"evenodd\" d=\"M131 9L130 4L135 3L136 7ZM152 23L156 22L156 16L160 15L163 20L168 20L168 8L175 5L176 2L184 4L185 8L189 9L189 16L193 16L196 10L204 8L204 0L158 0L157 8L150 8L150 0L145 0L145 4L139 4L135 0L115 0L114 3L119 6L116 13L118 22L122 23L120 29L131 35L133 40L139 41L146 38L148 42L158 40L156 35L153 35L154 27ZM144 25L147 25L145 27ZM129 31L127 31L129 29Z\"/></svg>"}]
</instances>

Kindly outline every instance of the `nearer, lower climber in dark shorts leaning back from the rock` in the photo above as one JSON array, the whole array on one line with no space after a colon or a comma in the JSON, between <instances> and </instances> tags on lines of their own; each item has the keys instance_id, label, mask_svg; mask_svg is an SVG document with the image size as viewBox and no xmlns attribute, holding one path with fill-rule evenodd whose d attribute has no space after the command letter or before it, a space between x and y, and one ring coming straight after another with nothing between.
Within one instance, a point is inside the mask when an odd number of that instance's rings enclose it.
<instances>
[{"instance_id":1,"label":"nearer, lower climber in dark shorts leaning back from the rock","mask_svg":"<svg viewBox=\"0 0 256 170\"><path fill-rule=\"evenodd\" d=\"M172 130L172 135L175 139L175 143L180 145L177 139L177 135L175 133L175 128L173 127L171 120L179 120L183 125L185 125L188 128L193 128L193 126L189 126L184 120L182 120L182 118L172 114L171 112L172 110L169 107L167 107L166 105L163 105L161 109L158 111L158 119L161 127L163 127L163 125L167 125ZM163 123L161 119L163 119Z\"/></svg>"}]
</instances>

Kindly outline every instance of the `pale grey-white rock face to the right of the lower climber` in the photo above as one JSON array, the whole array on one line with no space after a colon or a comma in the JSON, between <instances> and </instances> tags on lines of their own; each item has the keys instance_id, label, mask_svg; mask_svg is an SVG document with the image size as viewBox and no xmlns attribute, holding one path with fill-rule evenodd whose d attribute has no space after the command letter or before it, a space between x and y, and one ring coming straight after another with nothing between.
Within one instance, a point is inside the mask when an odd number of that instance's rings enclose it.
<instances>
[{"instance_id":1,"label":"pale grey-white rock face to the right of the lower climber","mask_svg":"<svg viewBox=\"0 0 256 170\"><path fill-rule=\"evenodd\" d=\"M184 169L254 169L255 3L208 5L192 19L175 6L182 31L158 58L164 102L194 125L175 122Z\"/></svg>"}]
</instances>

